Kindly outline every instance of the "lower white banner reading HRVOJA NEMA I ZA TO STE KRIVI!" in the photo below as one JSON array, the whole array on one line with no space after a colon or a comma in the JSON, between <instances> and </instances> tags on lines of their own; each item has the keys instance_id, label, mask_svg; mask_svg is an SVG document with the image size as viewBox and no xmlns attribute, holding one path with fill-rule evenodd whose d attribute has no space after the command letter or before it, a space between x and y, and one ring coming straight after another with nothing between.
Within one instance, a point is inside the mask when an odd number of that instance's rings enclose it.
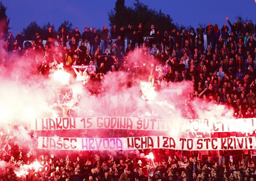
<instances>
[{"instance_id":1,"label":"lower white banner reading HRVOJA NEMA I ZA TO STE KRIVI!","mask_svg":"<svg viewBox=\"0 0 256 181\"><path fill-rule=\"evenodd\" d=\"M238 150L255 149L255 137L236 138L175 138L144 136L127 138L60 138L39 137L39 149L52 150L134 150L166 148L177 150Z\"/></svg>"}]
</instances>

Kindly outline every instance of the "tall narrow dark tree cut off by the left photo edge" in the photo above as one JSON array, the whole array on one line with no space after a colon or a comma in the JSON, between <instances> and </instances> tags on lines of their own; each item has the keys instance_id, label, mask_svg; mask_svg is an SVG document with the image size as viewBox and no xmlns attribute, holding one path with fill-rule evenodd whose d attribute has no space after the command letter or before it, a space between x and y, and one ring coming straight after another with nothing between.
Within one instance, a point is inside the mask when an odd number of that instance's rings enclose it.
<instances>
[{"instance_id":1,"label":"tall narrow dark tree cut off by the left photo edge","mask_svg":"<svg viewBox=\"0 0 256 181\"><path fill-rule=\"evenodd\" d=\"M9 23L10 23L10 18L7 17L6 15L6 9L7 7L4 6L2 1L0 2L0 33L4 33L6 36L8 33L8 30L10 29Z\"/></svg>"}]
</instances>

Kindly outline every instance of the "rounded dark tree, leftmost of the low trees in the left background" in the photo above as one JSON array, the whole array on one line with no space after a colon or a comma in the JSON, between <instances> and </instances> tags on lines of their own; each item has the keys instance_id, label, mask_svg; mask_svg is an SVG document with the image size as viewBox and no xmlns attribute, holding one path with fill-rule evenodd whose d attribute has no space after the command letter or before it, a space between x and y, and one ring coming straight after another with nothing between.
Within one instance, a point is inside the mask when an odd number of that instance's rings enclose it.
<instances>
[{"instance_id":1,"label":"rounded dark tree, leftmost of the low trees in the left background","mask_svg":"<svg viewBox=\"0 0 256 181\"><path fill-rule=\"evenodd\" d=\"M44 30L37 25L36 21L31 22L27 28L23 28L22 34L27 38L28 40L32 40L33 36L36 33L39 33L39 35L42 37L42 39L45 39L45 33Z\"/></svg>"}]
</instances>

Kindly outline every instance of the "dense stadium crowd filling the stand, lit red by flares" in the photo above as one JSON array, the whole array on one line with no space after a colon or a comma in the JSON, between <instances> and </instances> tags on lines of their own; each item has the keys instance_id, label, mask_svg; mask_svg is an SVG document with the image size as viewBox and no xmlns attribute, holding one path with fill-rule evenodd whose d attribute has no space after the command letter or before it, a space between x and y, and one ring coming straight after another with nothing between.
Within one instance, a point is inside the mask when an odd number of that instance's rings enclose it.
<instances>
[{"instance_id":1,"label":"dense stadium crowd filling the stand, lit red by flares","mask_svg":"<svg viewBox=\"0 0 256 181\"><path fill-rule=\"evenodd\" d=\"M253 118L256 116L255 26L252 20L248 24L239 21L231 24L226 19L228 25L223 25L221 29L209 22L206 27L196 30L191 27L189 31L182 32L175 29L159 32L154 25L143 27L142 24L127 28L114 26L110 30L105 25L100 33L86 27L81 34L75 28L71 39L70 33L63 28L55 36L49 27L46 44L42 43L38 33L35 33L32 42L21 32L15 38L12 33L7 36L1 33L1 74L13 76L12 70L22 62L33 66L35 69L30 73L40 79L49 79L55 71L64 70L83 84L89 95L99 98L108 97L101 83L105 75L112 72L124 71L129 75L127 83L118 83L117 89L131 87L141 79L150 82L155 91L166 88L168 82L190 81L194 87L184 104L196 106L194 100L201 99L234 108L237 118ZM149 34L145 34L145 28L149 28ZM204 33L207 47L204 47ZM71 98L72 90L65 88L58 101L63 117L72 114L65 106ZM106 104L107 101L109 99L106 99ZM130 102L127 112L136 111L133 101ZM190 113L185 117L195 118L195 114ZM28 130L24 126L22 128ZM115 133L116 137L138 134L125 131ZM35 133L30 134L33 139L36 138ZM47 132L40 134L48 135ZM114 135L112 132L109 134ZM91 136L90 132L84 135ZM219 136L243 135L222 133ZM21 148L21 140L16 133L3 133L1 140L0 156L5 163L0 173L3 181L256 180L256 150L145 149L132 153L116 151L115 154L84 151L59 157L57 151L42 152L33 145ZM154 159L146 157L149 153L153 153ZM40 166L33 166L37 162ZM21 170L17 168L27 164L31 164L27 176L19 176L17 172L21 173Z\"/></svg>"}]
</instances>

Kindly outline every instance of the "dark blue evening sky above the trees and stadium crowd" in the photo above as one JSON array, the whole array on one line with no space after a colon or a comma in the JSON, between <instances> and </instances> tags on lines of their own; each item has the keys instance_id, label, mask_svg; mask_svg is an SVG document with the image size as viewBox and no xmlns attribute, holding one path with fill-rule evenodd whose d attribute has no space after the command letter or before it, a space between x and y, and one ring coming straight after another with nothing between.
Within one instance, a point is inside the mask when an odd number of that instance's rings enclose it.
<instances>
[{"instance_id":1,"label":"dark blue evening sky above the trees and stadium crowd","mask_svg":"<svg viewBox=\"0 0 256 181\"><path fill-rule=\"evenodd\" d=\"M10 18L10 30L14 35L32 21L42 26L50 21L57 29L64 20L69 20L73 28L78 27L84 32L84 27L102 28L109 24L108 12L115 7L116 0L3 0L8 7L7 15ZM126 0L126 6L132 6L134 0ZM235 22L237 15L252 19L255 24L256 3L254 0L140 0L149 8L162 10L170 14L174 22L185 26L192 25L195 29L198 23L223 25L225 16ZM132 23L131 23L132 24ZM133 25L134 26L134 25Z\"/></svg>"}]
</instances>

